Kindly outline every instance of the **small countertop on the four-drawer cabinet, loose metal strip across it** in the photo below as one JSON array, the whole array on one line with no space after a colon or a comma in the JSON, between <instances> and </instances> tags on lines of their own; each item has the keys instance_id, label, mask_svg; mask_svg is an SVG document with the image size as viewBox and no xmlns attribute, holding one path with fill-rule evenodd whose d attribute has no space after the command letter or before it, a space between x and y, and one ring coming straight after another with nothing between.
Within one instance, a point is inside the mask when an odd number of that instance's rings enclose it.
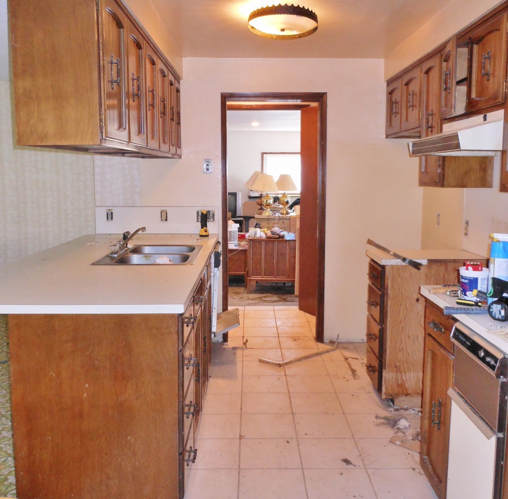
<instances>
[{"instance_id":1,"label":"small countertop on the four-drawer cabinet, loose metal strip across it","mask_svg":"<svg viewBox=\"0 0 508 499\"><path fill-rule=\"evenodd\" d=\"M470 253L469 251L457 249L412 249L412 250L392 250L394 253L415 260L423 265L430 261L453 261L453 260L485 260L486 256ZM377 248L369 248L365 254L380 265L405 265L405 263L395 256L386 253Z\"/></svg>"}]
</instances>

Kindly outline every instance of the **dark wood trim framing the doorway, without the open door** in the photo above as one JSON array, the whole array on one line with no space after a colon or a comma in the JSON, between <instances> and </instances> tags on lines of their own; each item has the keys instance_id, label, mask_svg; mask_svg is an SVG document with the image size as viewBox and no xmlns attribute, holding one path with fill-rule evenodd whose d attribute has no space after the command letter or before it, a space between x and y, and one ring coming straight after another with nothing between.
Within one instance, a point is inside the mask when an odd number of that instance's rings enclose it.
<instances>
[{"instance_id":1,"label":"dark wood trim framing the doorway, without the open door","mask_svg":"<svg viewBox=\"0 0 508 499\"><path fill-rule=\"evenodd\" d=\"M320 137L317 185L317 252L325 255L325 213L326 213L326 136L327 136L327 93L326 92L222 92L220 94L220 135L221 135L221 189L222 189L222 244L223 244L223 310L228 309L228 191L227 191L227 110L228 102L260 101L270 102L315 102L319 107L318 135ZM323 262L325 259L323 258ZM317 266L316 291L316 341L324 341L325 315L325 265Z\"/></svg>"}]
</instances>

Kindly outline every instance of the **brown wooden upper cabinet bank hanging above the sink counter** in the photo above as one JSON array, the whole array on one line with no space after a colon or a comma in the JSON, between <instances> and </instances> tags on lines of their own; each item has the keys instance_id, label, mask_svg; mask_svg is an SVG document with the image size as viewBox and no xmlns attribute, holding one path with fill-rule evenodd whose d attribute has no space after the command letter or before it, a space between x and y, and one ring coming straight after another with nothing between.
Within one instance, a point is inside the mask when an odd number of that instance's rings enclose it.
<instances>
[{"instance_id":1,"label":"brown wooden upper cabinet bank hanging above the sink counter","mask_svg":"<svg viewBox=\"0 0 508 499\"><path fill-rule=\"evenodd\" d=\"M121 0L17 0L9 3L9 21L18 145L181 156L179 125L174 148L166 149L155 117L158 67L179 88L176 72ZM169 125L167 133L170 141Z\"/></svg>"}]
</instances>

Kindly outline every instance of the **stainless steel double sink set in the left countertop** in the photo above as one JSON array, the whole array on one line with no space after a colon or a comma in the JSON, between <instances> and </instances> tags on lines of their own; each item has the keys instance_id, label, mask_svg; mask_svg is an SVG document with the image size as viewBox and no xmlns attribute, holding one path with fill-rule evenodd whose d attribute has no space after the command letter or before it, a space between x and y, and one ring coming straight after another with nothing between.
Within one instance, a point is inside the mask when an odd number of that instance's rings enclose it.
<instances>
[{"instance_id":1,"label":"stainless steel double sink set in the left countertop","mask_svg":"<svg viewBox=\"0 0 508 499\"><path fill-rule=\"evenodd\" d=\"M199 245L139 244L118 253L103 256L94 261L92 265L158 265L164 263L192 265L200 252L201 246Z\"/></svg>"}]
</instances>

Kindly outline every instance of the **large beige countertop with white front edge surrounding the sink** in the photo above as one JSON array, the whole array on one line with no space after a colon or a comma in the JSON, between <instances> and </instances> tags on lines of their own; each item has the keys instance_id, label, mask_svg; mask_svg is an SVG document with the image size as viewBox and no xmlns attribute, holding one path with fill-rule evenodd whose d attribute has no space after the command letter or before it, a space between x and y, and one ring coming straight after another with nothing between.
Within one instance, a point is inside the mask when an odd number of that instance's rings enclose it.
<instances>
[{"instance_id":1,"label":"large beige countertop with white front edge surrounding the sink","mask_svg":"<svg viewBox=\"0 0 508 499\"><path fill-rule=\"evenodd\" d=\"M193 265L91 265L119 234L83 236L0 267L0 314L180 314L217 235L138 234L133 244L201 245Z\"/></svg>"}]
</instances>

